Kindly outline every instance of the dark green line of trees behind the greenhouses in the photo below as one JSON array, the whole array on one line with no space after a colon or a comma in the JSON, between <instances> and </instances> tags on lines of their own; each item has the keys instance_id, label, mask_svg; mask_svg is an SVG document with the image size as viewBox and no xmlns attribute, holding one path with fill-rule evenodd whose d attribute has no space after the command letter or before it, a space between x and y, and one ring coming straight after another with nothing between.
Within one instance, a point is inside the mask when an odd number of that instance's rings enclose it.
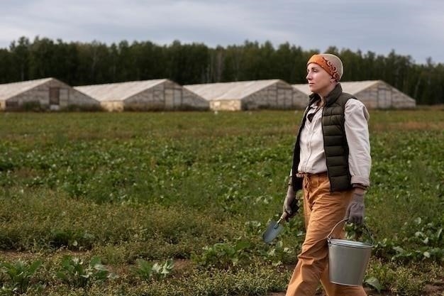
<instances>
[{"instance_id":1,"label":"dark green line of trees behind the greenhouses","mask_svg":"<svg viewBox=\"0 0 444 296\"><path fill-rule=\"evenodd\" d=\"M417 64L410 55L377 55L331 47L345 65L343 81L384 80L416 99L444 104L444 64L428 58ZM26 37L0 49L0 83L55 77L72 86L167 78L179 84L281 79L306 83L306 61L317 53L282 43L245 41L210 48L203 43L170 45L150 41L107 45Z\"/></svg>"}]
</instances>

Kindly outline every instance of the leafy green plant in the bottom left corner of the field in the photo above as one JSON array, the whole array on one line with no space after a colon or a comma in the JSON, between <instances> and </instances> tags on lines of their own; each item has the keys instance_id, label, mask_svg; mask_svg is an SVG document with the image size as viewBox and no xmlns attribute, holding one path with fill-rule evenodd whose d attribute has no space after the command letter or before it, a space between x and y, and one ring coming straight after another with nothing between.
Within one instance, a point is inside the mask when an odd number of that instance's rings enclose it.
<instances>
[{"instance_id":1,"label":"leafy green plant in the bottom left corner of the field","mask_svg":"<svg viewBox=\"0 0 444 296\"><path fill-rule=\"evenodd\" d=\"M26 263L18 260L15 263L1 263L1 272L6 274L9 278L11 285L4 285L4 291L16 292L22 294L28 290L30 280L35 272L42 265L42 261L37 260L33 263Z\"/></svg>"}]
</instances>

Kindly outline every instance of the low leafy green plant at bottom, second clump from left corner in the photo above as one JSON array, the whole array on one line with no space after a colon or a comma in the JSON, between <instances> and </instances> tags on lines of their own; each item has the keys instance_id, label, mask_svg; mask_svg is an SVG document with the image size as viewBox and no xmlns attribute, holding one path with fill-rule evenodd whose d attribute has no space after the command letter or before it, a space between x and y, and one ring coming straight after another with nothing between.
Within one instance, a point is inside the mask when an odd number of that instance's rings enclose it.
<instances>
[{"instance_id":1,"label":"low leafy green plant at bottom, second clump from left corner","mask_svg":"<svg viewBox=\"0 0 444 296\"><path fill-rule=\"evenodd\" d=\"M101 283L116 277L101 264L99 257L93 257L89 263L84 263L80 258L72 256L62 258L61 268L55 275L72 287L88 287L91 283Z\"/></svg>"}]
</instances>

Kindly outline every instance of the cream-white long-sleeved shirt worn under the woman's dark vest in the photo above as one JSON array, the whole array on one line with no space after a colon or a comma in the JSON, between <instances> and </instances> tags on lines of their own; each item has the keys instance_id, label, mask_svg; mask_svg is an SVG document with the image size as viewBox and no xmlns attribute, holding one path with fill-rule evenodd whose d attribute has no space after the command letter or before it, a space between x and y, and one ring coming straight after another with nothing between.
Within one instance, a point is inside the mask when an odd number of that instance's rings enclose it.
<instances>
[{"instance_id":1,"label":"cream-white long-sleeved shirt worn under the woman's dark vest","mask_svg":"<svg viewBox=\"0 0 444 296\"><path fill-rule=\"evenodd\" d=\"M317 174L327 171L326 155L323 148L322 111L316 111L316 103L307 107L307 116L313 114L313 119L306 119L301 130L299 146L300 160L298 172ZM349 99L345 104L345 136L347 138L349 155L348 167L352 176L351 184L370 185L370 139L368 120L370 115L362 102Z\"/></svg>"}]
</instances>

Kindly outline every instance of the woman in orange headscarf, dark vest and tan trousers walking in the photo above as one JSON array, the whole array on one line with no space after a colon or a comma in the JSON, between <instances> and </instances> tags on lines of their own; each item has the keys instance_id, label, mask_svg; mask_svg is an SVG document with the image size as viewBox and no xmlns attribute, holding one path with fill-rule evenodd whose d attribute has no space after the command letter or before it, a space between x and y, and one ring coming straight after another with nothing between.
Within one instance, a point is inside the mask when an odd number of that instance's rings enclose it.
<instances>
[{"instance_id":1,"label":"woman in orange headscarf, dark vest and tan trousers walking","mask_svg":"<svg viewBox=\"0 0 444 296\"><path fill-rule=\"evenodd\" d=\"M291 218L296 192L304 192L306 237L288 296L312 296L321 281L328 296L366 295L362 286L330 283L326 237L348 218L362 223L365 190L370 185L370 141L365 105L343 92L343 63L331 54L313 55L307 62L310 95L294 146L284 214ZM334 237L343 237L337 227Z\"/></svg>"}]
</instances>

